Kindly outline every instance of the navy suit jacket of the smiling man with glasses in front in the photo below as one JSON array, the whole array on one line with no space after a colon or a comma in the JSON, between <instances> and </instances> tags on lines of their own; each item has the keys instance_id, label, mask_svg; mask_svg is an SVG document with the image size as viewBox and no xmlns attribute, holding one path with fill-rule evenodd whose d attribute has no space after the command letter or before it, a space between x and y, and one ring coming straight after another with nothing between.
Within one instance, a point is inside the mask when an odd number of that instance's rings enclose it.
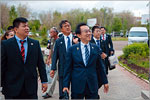
<instances>
[{"instance_id":1,"label":"navy suit jacket of the smiling man with glasses in front","mask_svg":"<svg viewBox=\"0 0 150 100\"><path fill-rule=\"evenodd\" d=\"M101 84L108 83L101 56L99 55L99 48L90 43L90 57L88 64L85 66L80 45L80 43L73 45L67 52L63 87L69 88L71 82L71 91L80 94L84 92L87 83L91 93L95 93L99 88L97 69L100 71Z\"/></svg>"}]
</instances>

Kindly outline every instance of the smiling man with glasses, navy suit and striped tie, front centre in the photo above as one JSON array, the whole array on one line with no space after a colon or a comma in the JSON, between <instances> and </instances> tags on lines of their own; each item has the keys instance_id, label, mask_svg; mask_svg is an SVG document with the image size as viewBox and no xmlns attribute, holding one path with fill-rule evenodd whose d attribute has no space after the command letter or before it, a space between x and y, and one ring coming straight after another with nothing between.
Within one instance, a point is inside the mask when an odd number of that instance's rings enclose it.
<instances>
[{"instance_id":1,"label":"smiling man with glasses, navy suit and striped tie, front centre","mask_svg":"<svg viewBox=\"0 0 150 100\"><path fill-rule=\"evenodd\" d=\"M63 91L69 93L71 82L72 99L98 99L98 76L100 70L104 92L108 92L108 80L99 55L99 47L90 43L91 31L85 23L80 23L76 34L81 42L69 48L64 68Z\"/></svg>"}]
</instances>

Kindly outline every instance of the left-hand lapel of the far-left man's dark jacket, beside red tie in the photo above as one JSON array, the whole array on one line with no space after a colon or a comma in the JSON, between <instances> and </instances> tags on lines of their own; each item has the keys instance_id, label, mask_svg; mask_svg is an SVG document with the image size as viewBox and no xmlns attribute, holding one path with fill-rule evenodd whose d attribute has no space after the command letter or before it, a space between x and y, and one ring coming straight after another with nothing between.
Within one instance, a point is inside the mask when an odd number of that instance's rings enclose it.
<instances>
[{"instance_id":1,"label":"left-hand lapel of the far-left man's dark jacket, beside red tie","mask_svg":"<svg viewBox=\"0 0 150 100\"><path fill-rule=\"evenodd\" d=\"M13 37L13 38L12 38L12 41L13 41L13 42L12 42L12 45L13 45L13 47L14 47L14 50L16 50L16 54L19 56L19 58L20 58L20 60L22 61L22 63L24 63L23 60L22 60L21 51L19 50L19 46L18 46L18 43L17 43L16 38Z\"/></svg>"}]
</instances>

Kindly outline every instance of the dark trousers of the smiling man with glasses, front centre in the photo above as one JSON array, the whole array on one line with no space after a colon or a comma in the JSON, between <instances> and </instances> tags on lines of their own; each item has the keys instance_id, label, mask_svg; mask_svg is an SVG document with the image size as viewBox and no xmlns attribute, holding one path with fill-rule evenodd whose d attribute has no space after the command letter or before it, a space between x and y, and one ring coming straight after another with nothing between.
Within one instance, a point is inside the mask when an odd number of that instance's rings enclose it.
<instances>
[{"instance_id":1,"label":"dark trousers of the smiling man with glasses, front centre","mask_svg":"<svg viewBox=\"0 0 150 100\"><path fill-rule=\"evenodd\" d=\"M79 90L80 91L80 90ZM88 87L88 84L86 84L84 92L81 94L72 93L71 99L99 99L98 91L95 93L91 93Z\"/></svg>"}]
</instances>

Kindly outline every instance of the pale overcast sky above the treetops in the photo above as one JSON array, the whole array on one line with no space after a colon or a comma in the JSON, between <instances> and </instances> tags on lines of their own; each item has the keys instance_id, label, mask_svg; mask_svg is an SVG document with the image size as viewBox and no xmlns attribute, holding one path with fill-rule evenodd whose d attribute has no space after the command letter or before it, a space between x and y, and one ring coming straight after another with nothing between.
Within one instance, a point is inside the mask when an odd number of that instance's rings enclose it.
<instances>
[{"instance_id":1,"label":"pale overcast sky above the treetops","mask_svg":"<svg viewBox=\"0 0 150 100\"><path fill-rule=\"evenodd\" d=\"M7 1L9 5L26 4L33 12L59 11L65 12L71 9L83 8L113 8L114 12L131 11L134 16L141 17L142 14L149 14L149 1Z\"/></svg>"}]
</instances>

